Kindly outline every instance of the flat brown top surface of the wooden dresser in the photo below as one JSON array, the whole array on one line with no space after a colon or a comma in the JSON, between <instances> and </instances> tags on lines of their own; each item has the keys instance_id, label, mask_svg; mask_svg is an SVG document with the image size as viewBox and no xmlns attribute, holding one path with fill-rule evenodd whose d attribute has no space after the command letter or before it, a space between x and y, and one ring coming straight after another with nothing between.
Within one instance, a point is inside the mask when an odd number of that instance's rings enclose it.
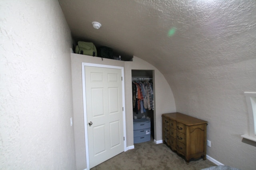
<instances>
[{"instance_id":1,"label":"flat brown top surface of the wooden dresser","mask_svg":"<svg viewBox=\"0 0 256 170\"><path fill-rule=\"evenodd\" d=\"M202 119L197 119L195 117L191 117L189 115L185 115L182 113L165 113L162 114L170 119L176 120L180 123L184 123L185 125L196 125L196 124L202 124L207 123L207 121L204 121Z\"/></svg>"}]
</instances>

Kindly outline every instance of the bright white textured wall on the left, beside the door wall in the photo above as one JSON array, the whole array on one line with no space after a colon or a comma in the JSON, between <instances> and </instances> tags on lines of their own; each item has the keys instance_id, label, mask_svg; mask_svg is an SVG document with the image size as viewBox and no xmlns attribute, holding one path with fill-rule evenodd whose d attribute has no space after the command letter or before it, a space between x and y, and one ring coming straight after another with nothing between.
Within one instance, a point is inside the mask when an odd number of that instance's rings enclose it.
<instances>
[{"instance_id":1,"label":"bright white textured wall on the left, beside the door wall","mask_svg":"<svg viewBox=\"0 0 256 170\"><path fill-rule=\"evenodd\" d=\"M71 44L57 0L1 0L1 169L76 169Z\"/></svg>"}]
</instances>

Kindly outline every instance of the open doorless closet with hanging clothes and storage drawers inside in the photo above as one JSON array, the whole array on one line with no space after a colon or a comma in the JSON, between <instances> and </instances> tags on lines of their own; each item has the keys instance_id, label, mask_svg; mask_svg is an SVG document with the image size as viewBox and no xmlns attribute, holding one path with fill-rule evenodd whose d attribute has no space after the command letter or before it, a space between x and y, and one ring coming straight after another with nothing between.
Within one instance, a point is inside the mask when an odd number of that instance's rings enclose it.
<instances>
[{"instance_id":1,"label":"open doorless closet with hanging clothes and storage drawers inside","mask_svg":"<svg viewBox=\"0 0 256 170\"><path fill-rule=\"evenodd\" d=\"M132 70L134 143L154 140L154 70Z\"/></svg>"}]
</instances>

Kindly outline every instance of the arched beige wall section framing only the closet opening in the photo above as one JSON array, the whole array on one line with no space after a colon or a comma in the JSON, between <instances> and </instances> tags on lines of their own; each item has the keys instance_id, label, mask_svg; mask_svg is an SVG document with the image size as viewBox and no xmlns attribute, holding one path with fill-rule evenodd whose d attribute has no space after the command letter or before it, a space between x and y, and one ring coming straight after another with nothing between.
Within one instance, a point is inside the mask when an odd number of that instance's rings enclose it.
<instances>
[{"instance_id":1,"label":"arched beige wall section framing only the closet opening","mask_svg":"<svg viewBox=\"0 0 256 170\"><path fill-rule=\"evenodd\" d=\"M162 113L176 111L172 90L162 73L148 62L134 57L132 62L125 62L126 127L127 146L133 145L132 117L132 70L154 70L154 134L156 141L162 140ZM126 125L127 126L127 125Z\"/></svg>"}]
</instances>

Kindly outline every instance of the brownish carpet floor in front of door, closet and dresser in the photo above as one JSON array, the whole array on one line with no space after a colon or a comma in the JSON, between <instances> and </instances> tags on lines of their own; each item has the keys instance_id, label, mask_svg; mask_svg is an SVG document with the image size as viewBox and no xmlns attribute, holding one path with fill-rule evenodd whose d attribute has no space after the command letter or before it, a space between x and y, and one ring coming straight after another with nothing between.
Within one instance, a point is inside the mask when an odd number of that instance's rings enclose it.
<instances>
[{"instance_id":1,"label":"brownish carpet floor in front of door, closet and dresser","mask_svg":"<svg viewBox=\"0 0 256 170\"><path fill-rule=\"evenodd\" d=\"M189 164L165 144L154 141L134 144L134 149L122 152L91 168L91 170L201 170L216 164L209 160L192 160Z\"/></svg>"}]
</instances>

